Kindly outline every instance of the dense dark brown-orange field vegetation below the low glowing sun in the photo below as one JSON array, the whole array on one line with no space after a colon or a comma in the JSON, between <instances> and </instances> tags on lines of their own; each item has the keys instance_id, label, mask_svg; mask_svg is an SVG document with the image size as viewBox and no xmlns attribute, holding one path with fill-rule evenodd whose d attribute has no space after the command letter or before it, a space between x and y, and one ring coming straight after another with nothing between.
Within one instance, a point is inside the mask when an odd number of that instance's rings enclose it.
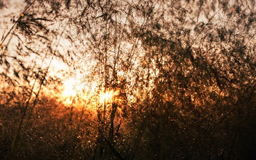
<instances>
[{"instance_id":1,"label":"dense dark brown-orange field vegetation below the low glowing sun","mask_svg":"<svg viewBox=\"0 0 256 160\"><path fill-rule=\"evenodd\" d=\"M41 97L9 157L24 109L20 94L1 95L1 159L255 159L255 97L247 92L205 108L154 97L122 106L115 119L108 110L105 122L86 106Z\"/></svg>"}]
</instances>

